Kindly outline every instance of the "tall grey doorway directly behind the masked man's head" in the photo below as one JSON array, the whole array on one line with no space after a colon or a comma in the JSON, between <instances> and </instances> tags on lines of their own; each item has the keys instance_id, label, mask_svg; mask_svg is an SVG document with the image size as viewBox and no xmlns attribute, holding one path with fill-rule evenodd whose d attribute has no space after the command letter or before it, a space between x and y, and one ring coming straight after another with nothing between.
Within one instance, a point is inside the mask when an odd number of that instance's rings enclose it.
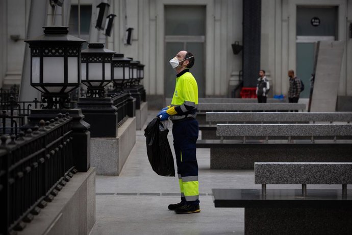
<instances>
[{"instance_id":1,"label":"tall grey doorway directly behind the masked man's head","mask_svg":"<svg viewBox=\"0 0 352 235\"><path fill-rule=\"evenodd\" d=\"M179 51L194 55L190 72L198 84L198 97L205 96L206 6L165 6L165 97L172 98L176 72L169 60Z\"/></svg>"}]
</instances>

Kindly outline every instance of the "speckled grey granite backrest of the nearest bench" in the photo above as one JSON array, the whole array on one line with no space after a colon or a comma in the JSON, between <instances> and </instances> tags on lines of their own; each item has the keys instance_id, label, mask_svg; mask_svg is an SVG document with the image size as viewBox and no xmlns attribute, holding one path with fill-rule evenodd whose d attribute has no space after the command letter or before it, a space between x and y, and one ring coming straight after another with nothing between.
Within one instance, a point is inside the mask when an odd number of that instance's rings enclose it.
<instances>
[{"instance_id":1,"label":"speckled grey granite backrest of the nearest bench","mask_svg":"<svg viewBox=\"0 0 352 235\"><path fill-rule=\"evenodd\" d=\"M350 162L256 162L258 184L351 184Z\"/></svg>"}]
</instances>

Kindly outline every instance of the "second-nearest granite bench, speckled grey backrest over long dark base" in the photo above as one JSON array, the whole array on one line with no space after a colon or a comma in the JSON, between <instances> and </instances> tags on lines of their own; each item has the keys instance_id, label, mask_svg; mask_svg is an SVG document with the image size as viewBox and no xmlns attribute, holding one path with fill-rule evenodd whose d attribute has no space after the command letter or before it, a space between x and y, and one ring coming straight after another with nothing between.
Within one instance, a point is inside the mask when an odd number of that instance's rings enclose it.
<instances>
[{"instance_id":1,"label":"second-nearest granite bench, speckled grey backrest over long dark base","mask_svg":"<svg viewBox=\"0 0 352 235\"><path fill-rule=\"evenodd\" d=\"M210 148L211 169L253 169L256 161L352 161L352 124L217 124L216 131L220 139L196 144Z\"/></svg>"}]
</instances>

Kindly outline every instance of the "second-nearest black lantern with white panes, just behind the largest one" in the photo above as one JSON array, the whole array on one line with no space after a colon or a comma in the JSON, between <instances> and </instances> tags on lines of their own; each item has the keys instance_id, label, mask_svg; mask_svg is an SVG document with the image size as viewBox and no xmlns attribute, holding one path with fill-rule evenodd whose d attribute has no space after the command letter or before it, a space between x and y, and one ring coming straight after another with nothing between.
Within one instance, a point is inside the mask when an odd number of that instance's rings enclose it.
<instances>
[{"instance_id":1,"label":"second-nearest black lantern with white panes, just behind the largest one","mask_svg":"<svg viewBox=\"0 0 352 235\"><path fill-rule=\"evenodd\" d=\"M112 79L114 51L104 49L104 43L88 43L82 51L82 83L87 86L87 97L105 97L104 87Z\"/></svg>"}]
</instances>

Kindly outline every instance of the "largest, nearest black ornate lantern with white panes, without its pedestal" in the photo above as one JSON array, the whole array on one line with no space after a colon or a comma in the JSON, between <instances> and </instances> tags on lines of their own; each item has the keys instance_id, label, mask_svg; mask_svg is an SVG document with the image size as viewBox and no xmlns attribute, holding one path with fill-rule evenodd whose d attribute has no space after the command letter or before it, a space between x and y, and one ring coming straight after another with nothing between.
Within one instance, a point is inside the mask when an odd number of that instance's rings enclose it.
<instances>
[{"instance_id":1,"label":"largest, nearest black ornate lantern with white panes, without its pedestal","mask_svg":"<svg viewBox=\"0 0 352 235\"><path fill-rule=\"evenodd\" d=\"M68 27L43 27L44 35L25 40L31 49L31 86L43 93L43 109L68 109L69 92L80 86L81 49L85 40Z\"/></svg>"}]
</instances>

